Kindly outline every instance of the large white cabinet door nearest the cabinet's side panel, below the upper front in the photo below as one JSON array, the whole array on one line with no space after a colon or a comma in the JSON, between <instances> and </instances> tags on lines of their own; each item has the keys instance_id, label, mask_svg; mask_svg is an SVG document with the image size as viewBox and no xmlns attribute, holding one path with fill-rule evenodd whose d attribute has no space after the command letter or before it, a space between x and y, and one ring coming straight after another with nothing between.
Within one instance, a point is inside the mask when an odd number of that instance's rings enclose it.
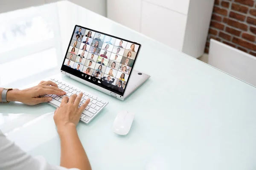
<instances>
[{"instance_id":1,"label":"large white cabinet door nearest the cabinet's side panel, below the upper front","mask_svg":"<svg viewBox=\"0 0 256 170\"><path fill-rule=\"evenodd\" d=\"M143 2L141 33L181 51L185 27L185 15Z\"/></svg>"}]
</instances>

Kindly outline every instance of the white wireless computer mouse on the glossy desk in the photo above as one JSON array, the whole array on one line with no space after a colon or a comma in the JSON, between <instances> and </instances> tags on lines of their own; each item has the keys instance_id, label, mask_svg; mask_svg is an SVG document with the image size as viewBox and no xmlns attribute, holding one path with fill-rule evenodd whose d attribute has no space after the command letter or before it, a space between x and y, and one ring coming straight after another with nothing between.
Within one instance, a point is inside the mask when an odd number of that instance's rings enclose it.
<instances>
[{"instance_id":1,"label":"white wireless computer mouse on the glossy desk","mask_svg":"<svg viewBox=\"0 0 256 170\"><path fill-rule=\"evenodd\" d=\"M128 111L118 113L113 124L114 133L119 135L127 135L131 129L133 119L134 113L130 113Z\"/></svg>"}]
</instances>

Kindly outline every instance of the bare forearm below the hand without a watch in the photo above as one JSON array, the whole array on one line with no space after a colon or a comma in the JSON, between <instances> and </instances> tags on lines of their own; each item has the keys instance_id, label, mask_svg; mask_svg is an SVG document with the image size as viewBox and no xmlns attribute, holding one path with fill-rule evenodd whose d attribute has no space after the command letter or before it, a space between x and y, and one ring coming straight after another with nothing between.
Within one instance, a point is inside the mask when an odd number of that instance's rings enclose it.
<instances>
[{"instance_id":1,"label":"bare forearm below the hand without a watch","mask_svg":"<svg viewBox=\"0 0 256 170\"><path fill-rule=\"evenodd\" d=\"M90 162L79 140L75 125L58 130L61 140L61 166L91 170Z\"/></svg>"}]
</instances>

